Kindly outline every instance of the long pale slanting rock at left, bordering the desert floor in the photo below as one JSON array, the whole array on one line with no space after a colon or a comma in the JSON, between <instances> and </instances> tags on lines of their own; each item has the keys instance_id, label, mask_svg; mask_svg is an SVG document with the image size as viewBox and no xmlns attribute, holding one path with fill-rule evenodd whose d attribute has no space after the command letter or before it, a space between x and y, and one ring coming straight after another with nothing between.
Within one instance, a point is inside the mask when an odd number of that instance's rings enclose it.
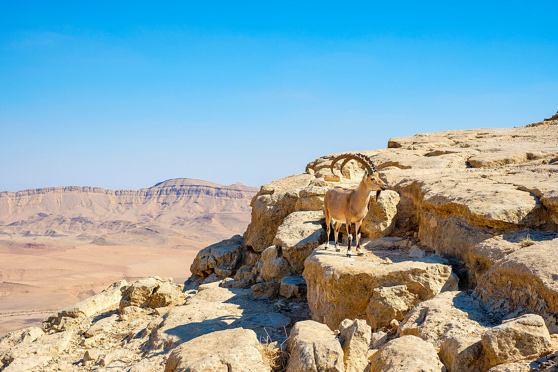
<instances>
[{"instance_id":1,"label":"long pale slanting rock at left, bordering the desert floor","mask_svg":"<svg viewBox=\"0 0 558 372\"><path fill-rule=\"evenodd\" d=\"M43 319L42 327L47 331L63 331L71 326L71 319L90 317L100 312L118 308L118 303L122 298L121 290L127 284L126 280L119 280L101 293L61 309L59 312Z\"/></svg>"}]
</instances>

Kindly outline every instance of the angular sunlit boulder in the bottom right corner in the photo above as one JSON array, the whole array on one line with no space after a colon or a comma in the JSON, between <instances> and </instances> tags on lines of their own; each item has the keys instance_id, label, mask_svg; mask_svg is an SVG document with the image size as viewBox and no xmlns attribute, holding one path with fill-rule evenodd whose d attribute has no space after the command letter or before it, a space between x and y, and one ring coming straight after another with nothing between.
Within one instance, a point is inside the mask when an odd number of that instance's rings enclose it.
<instances>
[{"instance_id":1,"label":"angular sunlit boulder in the bottom right corner","mask_svg":"<svg viewBox=\"0 0 558 372\"><path fill-rule=\"evenodd\" d=\"M489 367L553 351L549 330L535 314L503 321L485 331L481 339Z\"/></svg>"}]
</instances>

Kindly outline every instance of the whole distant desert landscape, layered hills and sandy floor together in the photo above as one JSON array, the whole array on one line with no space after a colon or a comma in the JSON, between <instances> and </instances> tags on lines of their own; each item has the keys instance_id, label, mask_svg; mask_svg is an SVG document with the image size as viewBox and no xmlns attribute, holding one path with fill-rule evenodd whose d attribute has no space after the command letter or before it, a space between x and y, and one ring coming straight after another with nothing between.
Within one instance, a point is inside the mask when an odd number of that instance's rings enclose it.
<instances>
[{"instance_id":1,"label":"whole distant desert landscape, layered hills and sandy floor together","mask_svg":"<svg viewBox=\"0 0 558 372\"><path fill-rule=\"evenodd\" d=\"M256 191L182 178L141 190L1 192L0 335L117 278L186 278L201 247L246 229Z\"/></svg>"}]
</instances>

